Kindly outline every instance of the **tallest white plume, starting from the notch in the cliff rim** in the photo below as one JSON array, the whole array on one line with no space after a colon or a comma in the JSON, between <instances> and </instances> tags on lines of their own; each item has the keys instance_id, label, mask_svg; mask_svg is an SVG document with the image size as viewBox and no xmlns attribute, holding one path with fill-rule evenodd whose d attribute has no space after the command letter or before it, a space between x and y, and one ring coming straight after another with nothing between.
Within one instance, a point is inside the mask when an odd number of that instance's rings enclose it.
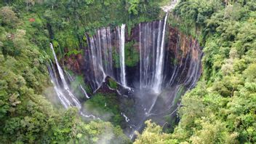
<instances>
[{"instance_id":1,"label":"tallest white plume, starting from the notch in the cliff rim","mask_svg":"<svg viewBox=\"0 0 256 144\"><path fill-rule=\"evenodd\" d=\"M163 32L161 37L161 47L160 49L158 49L158 52L156 53L156 75L155 75L155 82L153 85L153 89L157 94L161 91L161 83L163 81L164 39L165 39L165 30L167 26L167 17L168 17L168 12L164 18L164 28L162 30Z\"/></svg>"}]
</instances>

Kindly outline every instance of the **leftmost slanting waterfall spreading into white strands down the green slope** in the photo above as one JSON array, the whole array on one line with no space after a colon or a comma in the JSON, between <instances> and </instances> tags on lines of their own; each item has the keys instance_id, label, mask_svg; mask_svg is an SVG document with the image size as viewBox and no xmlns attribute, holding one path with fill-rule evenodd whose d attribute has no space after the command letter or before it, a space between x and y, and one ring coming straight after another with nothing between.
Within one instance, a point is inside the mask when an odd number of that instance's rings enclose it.
<instances>
[{"instance_id":1,"label":"leftmost slanting waterfall spreading into white strands down the green slope","mask_svg":"<svg viewBox=\"0 0 256 144\"><path fill-rule=\"evenodd\" d=\"M61 87L60 87L60 84L57 84L57 77L50 74L50 76L52 78L52 81L55 81L55 82L53 82L55 84L55 92L57 93L58 97L60 98L61 103L63 103L65 108L68 108L68 106L76 106L77 108L80 109L81 104L79 103L79 100L77 100L76 97L73 95L73 93L71 92L71 90L68 87L67 81L65 81L65 76L64 76L64 73L63 73L63 69L60 67L60 65L57 61L57 57L56 57L56 54L55 54L55 49L53 49L52 44L50 44L50 47L52 49L52 54L55 57L55 63L57 65L57 71L58 71L58 74L59 74L60 79L61 79L61 84L63 85L63 88L64 88L62 90ZM52 69L53 68L54 67L52 66ZM48 69L51 70L49 73L52 73L52 69L51 68L48 68ZM65 93L67 93L68 95L65 95Z\"/></svg>"}]
</instances>

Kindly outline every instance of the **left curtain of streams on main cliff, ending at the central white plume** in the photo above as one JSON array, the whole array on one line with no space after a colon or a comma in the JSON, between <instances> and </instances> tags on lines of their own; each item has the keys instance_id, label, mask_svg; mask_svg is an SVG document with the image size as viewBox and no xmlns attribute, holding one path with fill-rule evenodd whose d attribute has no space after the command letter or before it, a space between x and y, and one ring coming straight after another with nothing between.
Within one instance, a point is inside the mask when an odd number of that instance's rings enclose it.
<instances>
[{"instance_id":1,"label":"left curtain of streams on main cliff, ending at the central white plume","mask_svg":"<svg viewBox=\"0 0 256 144\"><path fill-rule=\"evenodd\" d=\"M84 59L87 68L92 68L87 74L95 92L103 84L106 76L115 79L125 88L127 86L125 70L125 25L116 27L111 31L110 27L100 28L94 36L87 36L89 49L85 50Z\"/></svg>"}]
</instances>

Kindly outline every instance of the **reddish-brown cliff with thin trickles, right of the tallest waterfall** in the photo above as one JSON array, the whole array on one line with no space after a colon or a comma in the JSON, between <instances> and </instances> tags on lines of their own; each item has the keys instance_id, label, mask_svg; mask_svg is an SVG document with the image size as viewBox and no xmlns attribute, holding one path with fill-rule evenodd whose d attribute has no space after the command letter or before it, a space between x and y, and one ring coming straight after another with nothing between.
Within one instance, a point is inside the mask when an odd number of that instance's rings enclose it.
<instances>
[{"instance_id":1,"label":"reddish-brown cliff with thin trickles, right of the tallest waterfall","mask_svg":"<svg viewBox=\"0 0 256 144\"><path fill-rule=\"evenodd\" d=\"M185 84L193 87L201 75L201 47L196 39L186 36L177 28L168 27L167 53L164 73L167 74L165 83ZM169 77L171 76L171 77Z\"/></svg>"}]
</instances>

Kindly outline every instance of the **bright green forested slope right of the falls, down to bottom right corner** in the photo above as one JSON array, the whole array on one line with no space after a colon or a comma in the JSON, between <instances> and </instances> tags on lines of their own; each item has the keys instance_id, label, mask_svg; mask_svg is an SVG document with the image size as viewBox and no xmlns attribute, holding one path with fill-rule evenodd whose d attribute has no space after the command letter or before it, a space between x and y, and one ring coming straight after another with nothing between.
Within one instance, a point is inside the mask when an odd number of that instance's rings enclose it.
<instances>
[{"instance_id":1,"label":"bright green forested slope right of the falls, down to bottom right corner","mask_svg":"<svg viewBox=\"0 0 256 144\"><path fill-rule=\"evenodd\" d=\"M135 143L256 143L255 1L181 0L169 22L200 40L203 73L175 132L147 122Z\"/></svg>"}]
</instances>

